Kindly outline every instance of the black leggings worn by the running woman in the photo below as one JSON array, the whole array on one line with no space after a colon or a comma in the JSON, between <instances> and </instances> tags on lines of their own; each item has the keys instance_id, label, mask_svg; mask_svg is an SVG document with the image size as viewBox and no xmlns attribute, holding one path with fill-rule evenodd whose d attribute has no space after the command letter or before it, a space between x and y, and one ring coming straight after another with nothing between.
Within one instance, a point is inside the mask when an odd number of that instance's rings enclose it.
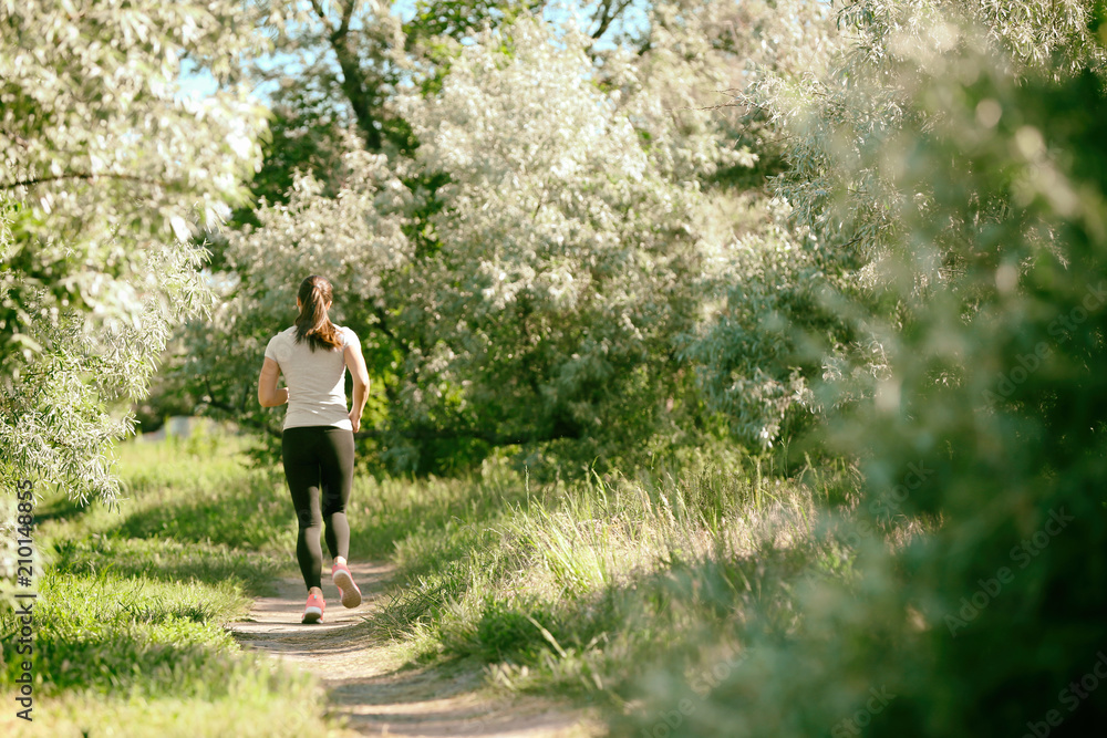
<instances>
[{"instance_id":1,"label":"black leggings worn by the running woman","mask_svg":"<svg viewBox=\"0 0 1107 738\"><path fill-rule=\"evenodd\" d=\"M286 428L281 435L281 455L299 524L296 559L310 590L320 586L322 523L327 523L324 538L331 557L344 559L350 552L345 505L353 486L353 433L333 426Z\"/></svg>"}]
</instances>

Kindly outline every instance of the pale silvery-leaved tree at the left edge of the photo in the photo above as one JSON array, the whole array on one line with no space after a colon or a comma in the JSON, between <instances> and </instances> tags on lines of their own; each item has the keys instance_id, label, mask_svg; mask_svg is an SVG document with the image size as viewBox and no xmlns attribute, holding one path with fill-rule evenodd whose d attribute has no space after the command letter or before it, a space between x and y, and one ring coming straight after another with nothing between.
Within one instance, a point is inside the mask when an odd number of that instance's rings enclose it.
<instances>
[{"instance_id":1,"label":"pale silvery-leaved tree at the left edge of the photo","mask_svg":"<svg viewBox=\"0 0 1107 738\"><path fill-rule=\"evenodd\" d=\"M194 229L241 201L260 157L263 111L230 86L182 96L182 63L230 82L249 29L229 0L0 2L6 503L23 479L114 501L126 405L208 300Z\"/></svg>"}]
</instances>

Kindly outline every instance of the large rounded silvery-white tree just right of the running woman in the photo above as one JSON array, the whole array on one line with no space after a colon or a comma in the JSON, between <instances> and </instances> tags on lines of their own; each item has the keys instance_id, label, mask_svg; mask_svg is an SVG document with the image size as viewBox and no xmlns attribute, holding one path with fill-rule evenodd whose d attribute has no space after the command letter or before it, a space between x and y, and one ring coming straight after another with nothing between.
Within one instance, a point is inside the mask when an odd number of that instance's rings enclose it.
<instances>
[{"instance_id":1,"label":"large rounded silvery-white tree just right of the running woman","mask_svg":"<svg viewBox=\"0 0 1107 738\"><path fill-rule=\"evenodd\" d=\"M643 146L619 90L592 82L588 45L521 21L406 101L418 164L448 177L404 391L432 423L457 402L497 443L641 437L676 392L697 185L669 176L672 149Z\"/></svg>"}]
</instances>

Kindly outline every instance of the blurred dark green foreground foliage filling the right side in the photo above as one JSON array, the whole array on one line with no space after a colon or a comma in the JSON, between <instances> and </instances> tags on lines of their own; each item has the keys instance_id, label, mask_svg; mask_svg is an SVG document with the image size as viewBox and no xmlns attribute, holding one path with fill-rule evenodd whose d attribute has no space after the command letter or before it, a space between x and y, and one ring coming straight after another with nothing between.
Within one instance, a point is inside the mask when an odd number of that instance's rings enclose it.
<instances>
[{"instance_id":1,"label":"blurred dark green foreground foliage filling the right side","mask_svg":"<svg viewBox=\"0 0 1107 738\"><path fill-rule=\"evenodd\" d=\"M1104 645L1104 40L1087 4L1010 8L846 8L848 84L797 118L789 187L820 241L857 247L821 298L855 342L794 339L828 357L823 441L862 459L852 573L797 588L787 637L734 628L743 658L710 689L643 679L656 719L692 700L673 735L1103 723L1078 683Z\"/></svg>"}]
</instances>

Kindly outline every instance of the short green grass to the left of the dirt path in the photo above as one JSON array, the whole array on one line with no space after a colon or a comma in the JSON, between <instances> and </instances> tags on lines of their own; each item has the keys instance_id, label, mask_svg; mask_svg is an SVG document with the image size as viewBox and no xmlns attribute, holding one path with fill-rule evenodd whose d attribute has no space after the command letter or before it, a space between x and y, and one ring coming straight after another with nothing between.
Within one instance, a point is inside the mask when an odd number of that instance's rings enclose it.
<instances>
[{"instance_id":1,"label":"short green grass to the left of the dirt path","mask_svg":"<svg viewBox=\"0 0 1107 738\"><path fill-rule=\"evenodd\" d=\"M293 563L283 478L244 466L245 443L125 444L117 508L63 493L39 502L34 721L6 710L3 735L338 730L314 679L242 651L223 627ZM0 612L6 704L22 662L15 626ZM272 714L282 719L262 719Z\"/></svg>"}]
</instances>

